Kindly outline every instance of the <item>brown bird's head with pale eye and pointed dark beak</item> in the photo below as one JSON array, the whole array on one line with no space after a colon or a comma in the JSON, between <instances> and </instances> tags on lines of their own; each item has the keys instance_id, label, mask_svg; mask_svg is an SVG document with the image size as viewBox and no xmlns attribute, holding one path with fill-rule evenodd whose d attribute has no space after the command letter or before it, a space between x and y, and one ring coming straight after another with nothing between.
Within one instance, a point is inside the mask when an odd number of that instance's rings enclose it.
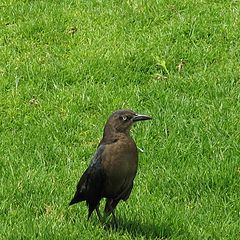
<instances>
[{"instance_id":1,"label":"brown bird's head with pale eye and pointed dark beak","mask_svg":"<svg viewBox=\"0 0 240 240\"><path fill-rule=\"evenodd\" d=\"M147 115L137 114L131 110L118 110L109 117L105 130L128 133L135 122L150 119L152 118Z\"/></svg>"}]
</instances>

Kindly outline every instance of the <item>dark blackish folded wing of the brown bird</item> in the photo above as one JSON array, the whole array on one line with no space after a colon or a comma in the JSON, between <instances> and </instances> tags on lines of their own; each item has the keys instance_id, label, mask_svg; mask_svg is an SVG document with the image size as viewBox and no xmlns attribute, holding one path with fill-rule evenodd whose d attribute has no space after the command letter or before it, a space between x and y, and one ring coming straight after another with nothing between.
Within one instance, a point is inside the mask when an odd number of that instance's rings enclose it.
<instances>
[{"instance_id":1,"label":"dark blackish folded wing of the brown bird","mask_svg":"<svg viewBox=\"0 0 240 240\"><path fill-rule=\"evenodd\" d=\"M80 178L76 193L69 205L85 200L88 203L95 205L100 200L105 179L101 165L104 148L104 145L98 147L89 167Z\"/></svg>"}]
</instances>

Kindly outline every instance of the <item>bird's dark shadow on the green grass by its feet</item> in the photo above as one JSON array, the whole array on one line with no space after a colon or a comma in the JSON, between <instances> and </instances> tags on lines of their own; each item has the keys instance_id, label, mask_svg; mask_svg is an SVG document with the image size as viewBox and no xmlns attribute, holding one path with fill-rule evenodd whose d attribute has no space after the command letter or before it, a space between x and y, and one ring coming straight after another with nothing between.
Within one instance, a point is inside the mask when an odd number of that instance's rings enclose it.
<instances>
[{"instance_id":1,"label":"bird's dark shadow on the green grass by its feet","mask_svg":"<svg viewBox=\"0 0 240 240\"><path fill-rule=\"evenodd\" d=\"M172 226L167 224L139 223L137 220L118 218L118 225L108 224L106 231L115 231L120 234L129 234L132 238L144 237L144 239L164 239L171 237Z\"/></svg>"}]
</instances>

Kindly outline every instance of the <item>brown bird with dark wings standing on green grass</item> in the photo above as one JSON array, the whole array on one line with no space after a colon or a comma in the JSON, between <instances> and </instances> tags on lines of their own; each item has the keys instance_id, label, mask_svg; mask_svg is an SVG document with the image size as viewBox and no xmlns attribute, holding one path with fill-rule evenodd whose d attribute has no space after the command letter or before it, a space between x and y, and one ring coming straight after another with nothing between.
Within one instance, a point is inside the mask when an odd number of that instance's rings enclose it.
<instances>
[{"instance_id":1,"label":"brown bird with dark wings standing on green grass","mask_svg":"<svg viewBox=\"0 0 240 240\"><path fill-rule=\"evenodd\" d=\"M99 204L105 198L105 216L112 214L114 224L117 224L114 210L120 200L129 198L138 168L137 146L130 129L135 122L150 119L152 117L125 109L113 112L108 118L96 153L69 203L73 205L85 201L88 220L96 210L99 221L103 223Z\"/></svg>"}]
</instances>

